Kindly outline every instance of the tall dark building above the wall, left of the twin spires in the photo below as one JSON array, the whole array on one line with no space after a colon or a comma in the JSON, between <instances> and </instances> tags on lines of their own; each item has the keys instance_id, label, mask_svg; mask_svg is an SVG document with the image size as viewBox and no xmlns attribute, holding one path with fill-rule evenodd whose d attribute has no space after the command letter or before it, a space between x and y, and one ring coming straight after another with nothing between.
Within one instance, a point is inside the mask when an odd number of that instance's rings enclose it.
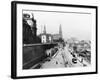
<instances>
[{"instance_id":1,"label":"tall dark building above the wall, left of the twin spires","mask_svg":"<svg viewBox=\"0 0 100 80\"><path fill-rule=\"evenodd\" d=\"M23 44L40 43L41 40L37 36L37 26L34 15L23 14Z\"/></svg>"}]
</instances>

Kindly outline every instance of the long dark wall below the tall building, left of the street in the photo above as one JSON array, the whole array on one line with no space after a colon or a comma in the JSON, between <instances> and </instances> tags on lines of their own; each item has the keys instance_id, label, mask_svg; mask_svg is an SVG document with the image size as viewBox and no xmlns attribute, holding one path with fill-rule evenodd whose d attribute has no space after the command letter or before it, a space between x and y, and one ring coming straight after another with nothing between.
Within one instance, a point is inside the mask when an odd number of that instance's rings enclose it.
<instances>
[{"instance_id":1,"label":"long dark wall below the tall building, left of the street","mask_svg":"<svg viewBox=\"0 0 100 80\"><path fill-rule=\"evenodd\" d=\"M29 69L47 56L45 51L57 44L34 44L23 46L23 69Z\"/></svg>"}]
</instances>

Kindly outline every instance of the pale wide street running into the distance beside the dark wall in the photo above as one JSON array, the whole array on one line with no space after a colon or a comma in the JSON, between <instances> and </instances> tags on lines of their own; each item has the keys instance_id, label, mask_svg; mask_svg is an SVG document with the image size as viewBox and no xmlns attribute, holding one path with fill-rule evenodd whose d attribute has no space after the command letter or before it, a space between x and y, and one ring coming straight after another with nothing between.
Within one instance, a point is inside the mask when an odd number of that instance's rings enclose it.
<instances>
[{"instance_id":1,"label":"pale wide street running into the distance beside the dark wall","mask_svg":"<svg viewBox=\"0 0 100 80\"><path fill-rule=\"evenodd\" d=\"M72 61L76 59L76 62ZM68 51L68 45L64 48L59 48L58 51L52 56L48 57L46 60L39 63L40 68L64 68L64 67L83 67L90 66L90 64L83 60L81 62L81 57L73 57L73 55Z\"/></svg>"}]
</instances>

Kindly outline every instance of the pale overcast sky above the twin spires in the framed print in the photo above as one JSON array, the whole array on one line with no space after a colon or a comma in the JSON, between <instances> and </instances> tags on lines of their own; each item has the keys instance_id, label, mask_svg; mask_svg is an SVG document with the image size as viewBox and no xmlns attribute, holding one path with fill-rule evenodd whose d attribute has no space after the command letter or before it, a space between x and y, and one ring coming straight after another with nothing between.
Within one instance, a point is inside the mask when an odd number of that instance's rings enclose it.
<instances>
[{"instance_id":1,"label":"pale overcast sky above the twin spires in the framed print","mask_svg":"<svg viewBox=\"0 0 100 80\"><path fill-rule=\"evenodd\" d=\"M34 14L34 18L37 21L38 34L41 33L44 25L47 33L57 34L61 24L64 39L70 37L75 37L79 40L91 39L91 14L40 11L24 11L24 13Z\"/></svg>"}]
</instances>

